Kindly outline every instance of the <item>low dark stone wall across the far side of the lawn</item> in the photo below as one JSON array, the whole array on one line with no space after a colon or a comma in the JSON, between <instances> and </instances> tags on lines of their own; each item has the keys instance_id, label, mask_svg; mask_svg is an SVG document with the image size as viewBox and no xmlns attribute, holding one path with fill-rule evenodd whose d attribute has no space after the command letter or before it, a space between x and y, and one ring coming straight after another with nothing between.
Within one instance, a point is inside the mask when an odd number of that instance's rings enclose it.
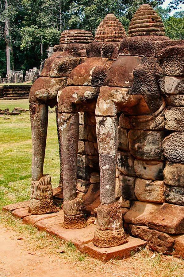
<instances>
[{"instance_id":1,"label":"low dark stone wall across the far side of the lawn","mask_svg":"<svg viewBox=\"0 0 184 277\"><path fill-rule=\"evenodd\" d=\"M4 85L0 98L4 100L28 99L31 85Z\"/></svg>"}]
</instances>

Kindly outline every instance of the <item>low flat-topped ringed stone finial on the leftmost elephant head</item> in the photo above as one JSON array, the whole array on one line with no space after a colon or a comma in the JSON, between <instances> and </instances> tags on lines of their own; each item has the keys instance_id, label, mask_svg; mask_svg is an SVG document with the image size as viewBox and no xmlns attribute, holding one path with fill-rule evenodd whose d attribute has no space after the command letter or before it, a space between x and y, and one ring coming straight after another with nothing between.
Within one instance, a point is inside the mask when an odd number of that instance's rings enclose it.
<instances>
[{"instance_id":1,"label":"low flat-topped ringed stone finial on the leftmost elephant head","mask_svg":"<svg viewBox=\"0 0 184 277\"><path fill-rule=\"evenodd\" d=\"M94 41L91 32L85 30L65 30L61 33L59 44L91 43Z\"/></svg>"}]
</instances>

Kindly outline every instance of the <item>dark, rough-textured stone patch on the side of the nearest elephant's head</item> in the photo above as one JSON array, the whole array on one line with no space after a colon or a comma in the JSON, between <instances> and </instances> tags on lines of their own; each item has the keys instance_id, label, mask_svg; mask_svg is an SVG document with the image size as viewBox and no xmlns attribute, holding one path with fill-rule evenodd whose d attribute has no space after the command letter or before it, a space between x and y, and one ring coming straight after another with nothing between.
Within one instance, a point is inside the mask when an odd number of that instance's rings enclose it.
<instances>
[{"instance_id":1,"label":"dark, rough-textured stone patch on the side of the nearest elephant's head","mask_svg":"<svg viewBox=\"0 0 184 277\"><path fill-rule=\"evenodd\" d=\"M162 105L160 88L155 75L154 57L143 57L139 65L133 71L133 84L129 94L142 94L151 113L156 112ZM146 80L146 82L145 82Z\"/></svg>"}]
</instances>

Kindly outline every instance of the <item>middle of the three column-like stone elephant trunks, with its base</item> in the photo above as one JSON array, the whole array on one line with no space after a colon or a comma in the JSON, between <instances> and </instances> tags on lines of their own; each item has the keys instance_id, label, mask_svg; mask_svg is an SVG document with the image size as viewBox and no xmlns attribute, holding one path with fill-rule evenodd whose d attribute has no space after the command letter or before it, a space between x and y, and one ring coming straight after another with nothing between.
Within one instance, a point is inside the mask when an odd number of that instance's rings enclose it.
<instances>
[{"instance_id":1,"label":"middle of the three column-like stone elephant trunks, with its base","mask_svg":"<svg viewBox=\"0 0 184 277\"><path fill-rule=\"evenodd\" d=\"M79 140L79 114L59 113L59 134L63 163L63 227L79 229L86 226L83 202L76 198L77 150Z\"/></svg>"}]
</instances>

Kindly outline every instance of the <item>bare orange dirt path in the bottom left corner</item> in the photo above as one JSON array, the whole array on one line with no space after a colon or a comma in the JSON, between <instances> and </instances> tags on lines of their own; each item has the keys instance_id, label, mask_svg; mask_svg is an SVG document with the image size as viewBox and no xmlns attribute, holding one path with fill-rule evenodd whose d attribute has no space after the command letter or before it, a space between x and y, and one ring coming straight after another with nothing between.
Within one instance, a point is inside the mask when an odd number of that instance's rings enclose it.
<instances>
[{"instance_id":1,"label":"bare orange dirt path in the bottom left corner","mask_svg":"<svg viewBox=\"0 0 184 277\"><path fill-rule=\"evenodd\" d=\"M0 276L2 277L94 277L44 251L29 251L29 245L11 229L0 226ZM95 272L95 277L101 277Z\"/></svg>"}]
</instances>

